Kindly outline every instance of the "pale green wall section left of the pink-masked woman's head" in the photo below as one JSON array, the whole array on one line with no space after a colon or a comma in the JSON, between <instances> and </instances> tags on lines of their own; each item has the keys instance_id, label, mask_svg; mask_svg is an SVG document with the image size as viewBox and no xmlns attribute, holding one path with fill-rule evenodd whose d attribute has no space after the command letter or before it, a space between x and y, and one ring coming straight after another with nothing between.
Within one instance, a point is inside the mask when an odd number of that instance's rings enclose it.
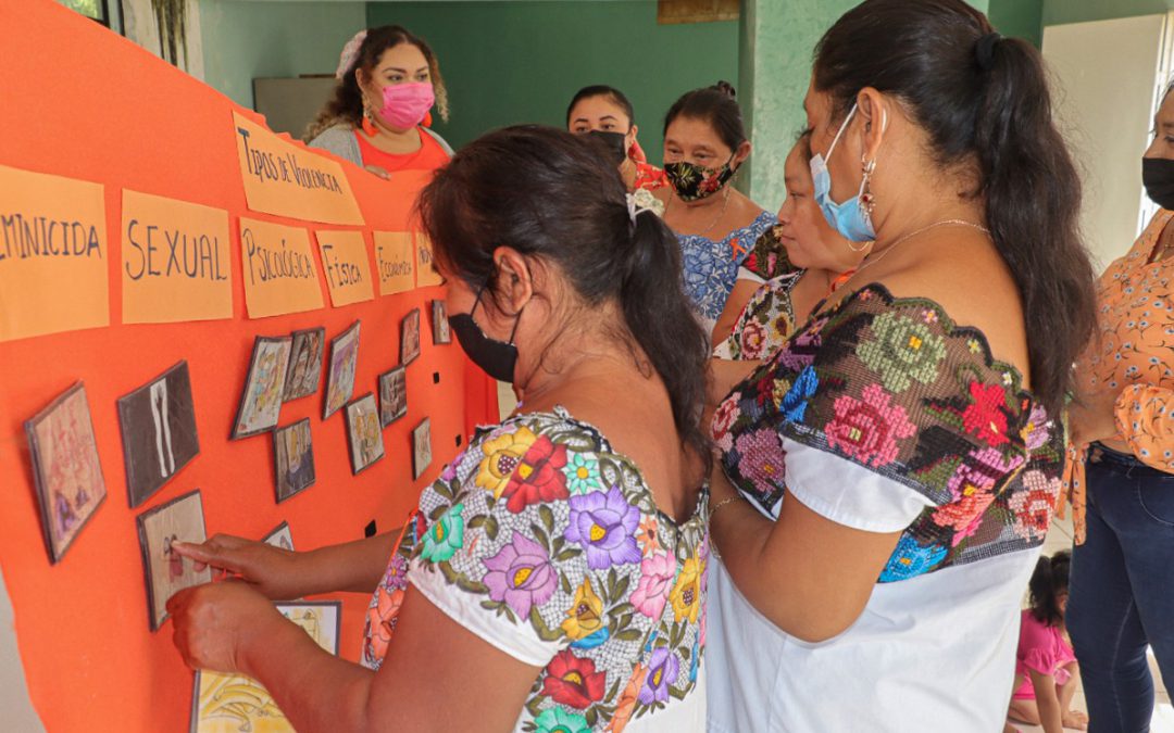
<instances>
[{"instance_id":1,"label":"pale green wall section left of the pink-masked woman's head","mask_svg":"<svg viewBox=\"0 0 1174 733\"><path fill-rule=\"evenodd\" d=\"M365 2L200 0L204 81L252 108L254 77L333 74L364 27Z\"/></svg>"}]
</instances>

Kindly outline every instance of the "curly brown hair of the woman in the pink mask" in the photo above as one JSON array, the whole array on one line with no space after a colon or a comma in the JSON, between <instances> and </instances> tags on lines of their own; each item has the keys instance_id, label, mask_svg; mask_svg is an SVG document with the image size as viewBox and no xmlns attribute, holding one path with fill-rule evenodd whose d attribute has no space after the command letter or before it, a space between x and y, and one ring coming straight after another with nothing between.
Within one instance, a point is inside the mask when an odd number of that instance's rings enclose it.
<instances>
[{"instance_id":1,"label":"curly brown hair of the woman in the pink mask","mask_svg":"<svg viewBox=\"0 0 1174 733\"><path fill-rule=\"evenodd\" d=\"M440 63L437 61L436 54L432 53L432 47L420 36L412 35L412 32L403 26L380 26L367 30L366 38L359 45L358 53L355 54L353 63L335 86L335 96L318 111L318 116L306 128L302 138L309 142L328 128L339 123L349 124L352 128L363 124L363 91L359 89L355 70L363 69L370 76L379 66L379 59L383 57L384 52L400 43L410 43L424 54L425 61L429 62L432 90L437 96L437 111L440 113L440 118L447 122L448 91L445 89L444 77L440 76Z\"/></svg>"}]
</instances>

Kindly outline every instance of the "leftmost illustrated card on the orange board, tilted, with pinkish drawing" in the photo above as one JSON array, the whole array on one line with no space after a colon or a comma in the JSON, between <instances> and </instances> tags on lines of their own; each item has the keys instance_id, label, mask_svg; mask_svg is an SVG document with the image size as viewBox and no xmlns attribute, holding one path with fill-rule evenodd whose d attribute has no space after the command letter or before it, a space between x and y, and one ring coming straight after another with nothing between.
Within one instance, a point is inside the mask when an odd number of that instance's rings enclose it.
<instances>
[{"instance_id":1,"label":"leftmost illustrated card on the orange board, tilted, with pinkish drawing","mask_svg":"<svg viewBox=\"0 0 1174 733\"><path fill-rule=\"evenodd\" d=\"M86 386L77 382L25 423L49 562L56 563L106 501Z\"/></svg>"}]
</instances>

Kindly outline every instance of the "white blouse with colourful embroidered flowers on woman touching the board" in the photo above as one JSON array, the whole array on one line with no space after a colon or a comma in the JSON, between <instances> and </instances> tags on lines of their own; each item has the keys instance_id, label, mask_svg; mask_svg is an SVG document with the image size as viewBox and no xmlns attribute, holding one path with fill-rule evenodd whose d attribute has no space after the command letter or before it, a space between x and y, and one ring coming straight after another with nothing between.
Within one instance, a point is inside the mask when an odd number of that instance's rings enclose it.
<instances>
[{"instance_id":1,"label":"white blouse with colourful embroidered flowers on woman touching the board","mask_svg":"<svg viewBox=\"0 0 1174 733\"><path fill-rule=\"evenodd\" d=\"M676 525L639 469L561 408L481 430L421 495L414 542L371 600L363 663L382 664L411 584L544 667L515 729L700 729L707 495Z\"/></svg>"}]
</instances>

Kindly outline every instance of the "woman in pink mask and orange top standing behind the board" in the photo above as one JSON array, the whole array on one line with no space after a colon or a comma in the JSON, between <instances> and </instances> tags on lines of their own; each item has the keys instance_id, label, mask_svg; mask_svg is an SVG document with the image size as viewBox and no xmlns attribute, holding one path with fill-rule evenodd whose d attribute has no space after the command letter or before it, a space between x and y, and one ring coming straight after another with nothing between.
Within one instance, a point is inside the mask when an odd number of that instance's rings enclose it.
<instances>
[{"instance_id":1,"label":"woman in pink mask and orange top standing behind the board","mask_svg":"<svg viewBox=\"0 0 1174 733\"><path fill-rule=\"evenodd\" d=\"M343 48L335 96L305 131L311 148L329 150L389 177L436 170L452 148L433 133L433 107L448 121L440 65L424 39L400 26L360 30Z\"/></svg>"}]
</instances>

